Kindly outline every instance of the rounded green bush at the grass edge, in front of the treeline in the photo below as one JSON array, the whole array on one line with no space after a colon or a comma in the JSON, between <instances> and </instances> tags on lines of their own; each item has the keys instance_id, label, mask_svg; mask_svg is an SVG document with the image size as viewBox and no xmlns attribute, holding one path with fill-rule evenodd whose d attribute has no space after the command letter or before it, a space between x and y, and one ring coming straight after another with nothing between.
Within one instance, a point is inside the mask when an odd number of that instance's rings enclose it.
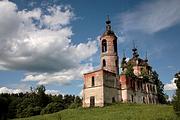
<instances>
[{"instance_id":1,"label":"rounded green bush at the grass edge, in front of the treeline","mask_svg":"<svg viewBox=\"0 0 180 120\"><path fill-rule=\"evenodd\" d=\"M49 103L44 109L42 109L41 115L58 112L63 109L64 109L64 105L62 103L52 102L52 103Z\"/></svg>"}]
</instances>

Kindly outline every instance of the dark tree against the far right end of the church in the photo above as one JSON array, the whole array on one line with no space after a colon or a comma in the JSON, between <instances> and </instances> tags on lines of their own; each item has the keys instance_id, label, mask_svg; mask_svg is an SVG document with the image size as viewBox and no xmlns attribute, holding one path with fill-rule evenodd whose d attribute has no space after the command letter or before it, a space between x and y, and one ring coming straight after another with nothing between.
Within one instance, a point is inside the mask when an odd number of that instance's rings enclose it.
<instances>
[{"instance_id":1,"label":"dark tree against the far right end of the church","mask_svg":"<svg viewBox=\"0 0 180 120\"><path fill-rule=\"evenodd\" d=\"M153 71L152 79L154 80L154 82L156 84L157 97L158 97L159 103L166 104L167 103L167 100L166 100L167 95L164 93L164 84L159 79L159 75L157 74L156 71Z\"/></svg>"}]
</instances>

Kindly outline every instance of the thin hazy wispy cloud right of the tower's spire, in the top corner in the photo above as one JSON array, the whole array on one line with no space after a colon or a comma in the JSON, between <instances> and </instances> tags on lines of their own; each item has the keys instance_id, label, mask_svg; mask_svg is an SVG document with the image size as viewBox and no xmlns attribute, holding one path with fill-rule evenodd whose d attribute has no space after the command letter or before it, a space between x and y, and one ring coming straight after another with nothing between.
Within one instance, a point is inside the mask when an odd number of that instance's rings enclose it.
<instances>
[{"instance_id":1,"label":"thin hazy wispy cloud right of the tower's spire, in the top corner","mask_svg":"<svg viewBox=\"0 0 180 120\"><path fill-rule=\"evenodd\" d=\"M125 31L140 30L155 33L180 23L179 0L155 0L137 6L120 15Z\"/></svg>"}]
</instances>

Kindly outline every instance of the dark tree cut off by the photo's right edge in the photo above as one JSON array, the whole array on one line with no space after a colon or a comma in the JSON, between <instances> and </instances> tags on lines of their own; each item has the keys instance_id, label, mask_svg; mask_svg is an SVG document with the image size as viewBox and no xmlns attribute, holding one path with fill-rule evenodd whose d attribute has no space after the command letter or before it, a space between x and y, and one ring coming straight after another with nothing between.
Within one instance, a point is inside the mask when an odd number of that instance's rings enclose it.
<instances>
[{"instance_id":1,"label":"dark tree cut off by the photo's right edge","mask_svg":"<svg viewBox=\"0 0 180 120\"><path fill-rule=\"evenodd\" d=\"M177 90L176 90L176 96L174 97L174 101L173 101L173 107L177 116L180 117L180 72L176 73L174 75L174 78L175 78L174 82L176 83Z\"/></svg>"}]
</instances>

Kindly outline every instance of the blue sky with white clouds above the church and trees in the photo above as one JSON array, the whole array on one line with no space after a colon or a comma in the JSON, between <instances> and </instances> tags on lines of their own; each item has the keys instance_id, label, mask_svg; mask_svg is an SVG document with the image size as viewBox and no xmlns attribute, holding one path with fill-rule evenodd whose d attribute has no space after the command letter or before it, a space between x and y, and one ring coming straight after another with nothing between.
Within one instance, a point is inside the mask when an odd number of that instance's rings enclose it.
<instances>
[{"instance_id":1,"label":"blue sky with white clouds above the church and trees","mask_svg":"<svg viewBox=\"0 0 180 120\"><path fill-rule=\"evenodd\" d=\"M179 11L179 0L2 0L0 93L45 85L46 93L81 95L83 73L99 67L109 15L119 61L123 50L132 57L135 41L172 97L180 70Z\"/></svg>"}]
</instances>

